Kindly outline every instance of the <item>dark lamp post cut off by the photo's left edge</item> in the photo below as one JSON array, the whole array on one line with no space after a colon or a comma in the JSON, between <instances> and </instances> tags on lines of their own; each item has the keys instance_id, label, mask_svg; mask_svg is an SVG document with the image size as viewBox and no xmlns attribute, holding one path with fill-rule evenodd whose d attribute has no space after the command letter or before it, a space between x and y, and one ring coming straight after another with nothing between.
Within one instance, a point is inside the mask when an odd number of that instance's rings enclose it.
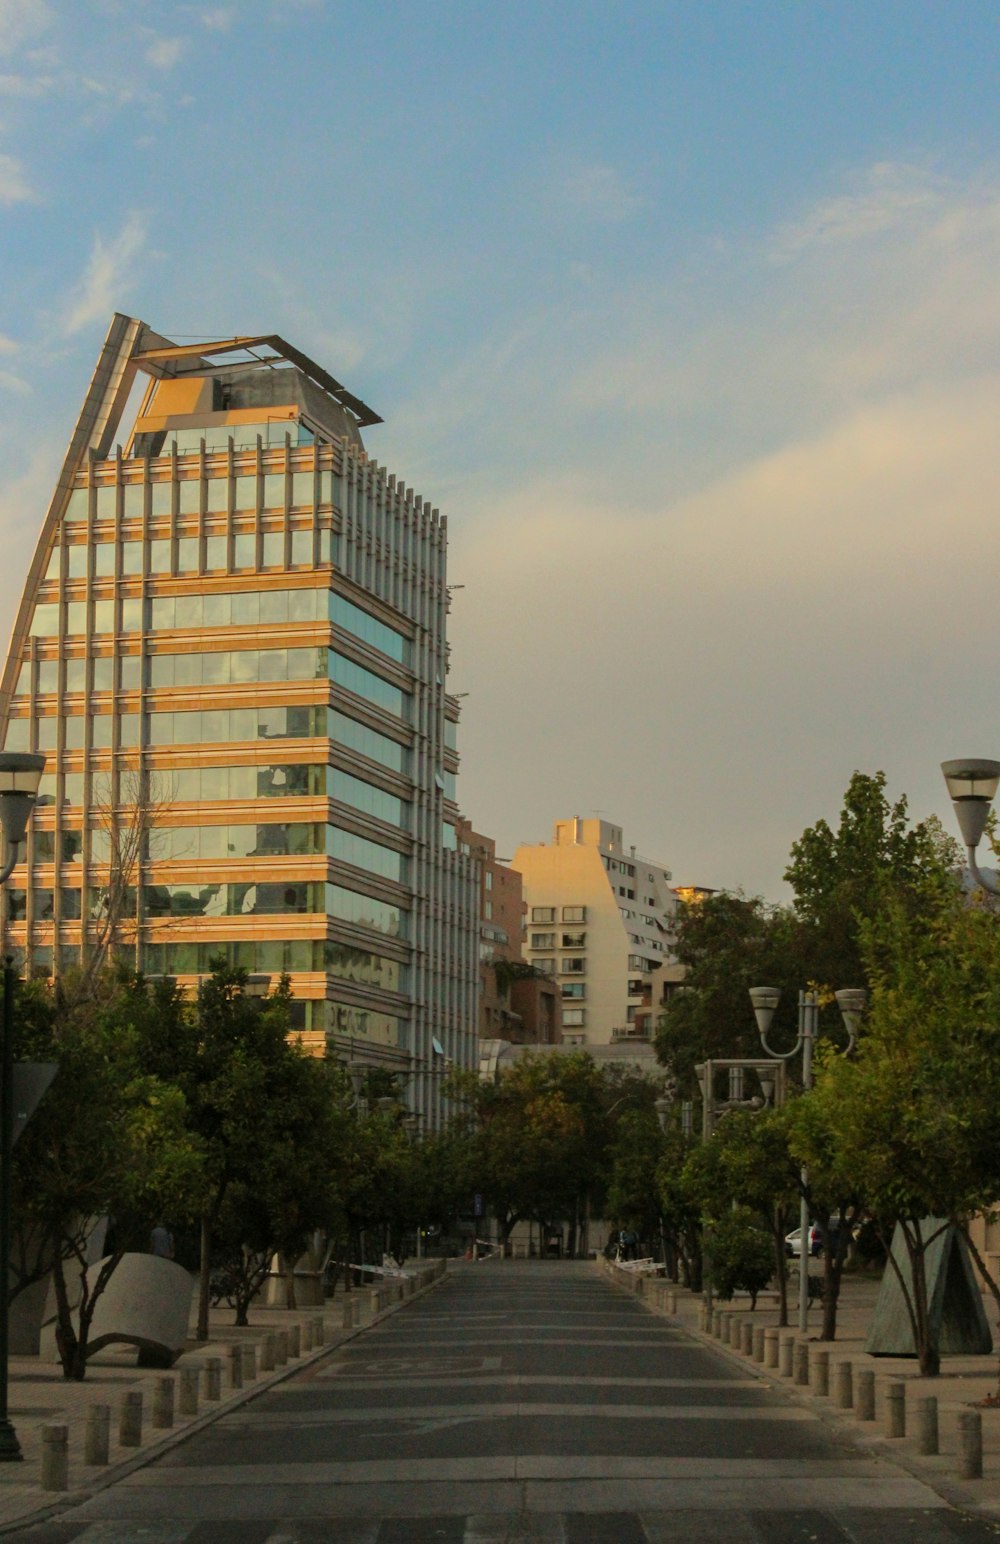
<instances>
[{"instance_id":1,"label":"dark lamp post cut off by the photo's left edge","mask_svg":"<svg viewBox=\"0 0 1000 1544\"><path fill-rule=\"evenodd\" d=\"M28 831L28 821L45 770L45 757L31 752L0 752L0 831L6 885ZM17 1433L8 1414L9 1275L11 1275L11 1149L14 1146L14 963L3 959L3 1036L0 1044L0 1462L22 1458Z\"/></svg>"}]
</instances>

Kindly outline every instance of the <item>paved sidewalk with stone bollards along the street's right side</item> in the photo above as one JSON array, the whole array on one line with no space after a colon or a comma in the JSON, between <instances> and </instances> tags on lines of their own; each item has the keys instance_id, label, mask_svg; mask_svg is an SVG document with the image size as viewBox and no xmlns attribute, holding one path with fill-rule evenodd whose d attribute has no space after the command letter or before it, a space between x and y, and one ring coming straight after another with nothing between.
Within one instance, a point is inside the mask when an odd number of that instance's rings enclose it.
<instances>
[{"instance_id":1,"label":"paved sidewalk with stone bollards along the street's right side","mask_svg":"<svg viewBox=\"0 0 1000 1544\"><path fill-rule=\"evenodd\" d=\"M705 1345L711 1345L722 1356L731 1357L745 1371L753 1373L761 1382L779 1388L785 1399L807 1403L821 1419L830 1425L847 1431L860 1447L877 1451L901 1468L924 1481L940 1496L955 1507L978 1513L989 1521L1000 1521L1000 1408L981 1408L981 1400L988 1394L997 1393L997 1353L992 1356L948 1356L941 1357L941 1374L938 1377L921 1377L917 1362L912 1357L869 1356L864 1342L875 1312L880 1283L869 1277L846 1275L841 1288L840 1308L836 1315L836 1340L819 1340L821 1311L813 1303L809 1309L809 1332L804 1337L807 1345L829 1353L829 1394L816 1391L816 1368L810 1366L809 1387L795 1382L795 1354L785 1351L785 1365L790 1365L792 1376L782 1376L779 1366L764 1366L753 1356L744 1354L739 1346L739 1329L742 1325L778 1326L778 1309L773 1297L758 1299L758 1308L750 1311L748 1299L735 1299L731 1303L716 1302L719 1312L719 1336L707 1334L699 1328L702 1322L701 1294L688 1292L685 1288L674 1288L673 1283L656 1277L636 1277L634 1272L622 1271L610 1261L599 1261L600 1268L627 1291L634 1292L653 1309L673 1319L687 1334ZM671 1305L676 1311L671 1312ZM986 1302L986 1315L992 1319L991 1303ZM724 1323L728 1320L728 1323ZM782 1339L801 1343L798 1332L798 1297L795 1285L790 1285L789 1328L778 1331L778 1346ZM758 1342L759 1342L758 1336ZM769 1337L773 1345L773 1337ZM995 1331L994 1331L995 1343ZM773 1351L772 1351L773 1356ZM853 1407L838 1408L836 1366L849 1362L852 1368ZM815 1363L815 1359L813 1359ZM858 1373L867 1368L875 1374L875 1420L863 1420L856 1413ZM819 1374L821 1376L821 1374ZM889 1437L889 1413L886 1391L889 1383L903 1383L906 1390L906 1431L903 1437ZM934 1396L938 1402L940 1451L935 1456L918 1453L917 1444L917 1400L921 1396ZM983 1478L960 1478L960 1437L958 1416L963 1411L977 1410L983 1424Z\"/></svg>"}]
</instances>

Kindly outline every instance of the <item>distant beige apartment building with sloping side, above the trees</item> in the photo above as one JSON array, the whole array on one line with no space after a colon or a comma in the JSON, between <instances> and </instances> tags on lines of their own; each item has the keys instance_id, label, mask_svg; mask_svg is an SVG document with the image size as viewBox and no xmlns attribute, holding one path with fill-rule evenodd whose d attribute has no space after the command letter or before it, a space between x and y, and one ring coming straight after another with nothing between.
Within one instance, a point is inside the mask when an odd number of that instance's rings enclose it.
<instances>
[{"instance_id":1,"label":"distant beige apartment building with sloping side, above the trees","mask_svg":"<svg viewBox=\"0 0 1000 1544\"><path fill-rule=\"evenodd\" d=\"M639 857L608 820L557 820L552 840L517 849L525 959L559 982L563 1044L648 1039L642 1005L673 960L671 872Z\"/></svg>"}]
</instances>

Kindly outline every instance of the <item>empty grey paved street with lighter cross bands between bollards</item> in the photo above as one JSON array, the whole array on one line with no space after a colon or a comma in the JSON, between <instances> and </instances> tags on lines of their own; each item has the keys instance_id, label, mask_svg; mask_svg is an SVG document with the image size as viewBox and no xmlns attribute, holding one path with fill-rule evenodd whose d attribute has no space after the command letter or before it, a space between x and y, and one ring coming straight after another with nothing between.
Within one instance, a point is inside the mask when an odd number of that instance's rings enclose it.
<instances>
[{"instance_id":1,"label":"empty grey paved street with lighter cross bands between bollards","mask_svg":"<svg viewBox=\"0 0 1000 1544\"><path fill-rule=\"evenodd\" d=\"M25 1544L995 1544L593 1266L488 1263Z\"/></svg>"}]
</instances>

